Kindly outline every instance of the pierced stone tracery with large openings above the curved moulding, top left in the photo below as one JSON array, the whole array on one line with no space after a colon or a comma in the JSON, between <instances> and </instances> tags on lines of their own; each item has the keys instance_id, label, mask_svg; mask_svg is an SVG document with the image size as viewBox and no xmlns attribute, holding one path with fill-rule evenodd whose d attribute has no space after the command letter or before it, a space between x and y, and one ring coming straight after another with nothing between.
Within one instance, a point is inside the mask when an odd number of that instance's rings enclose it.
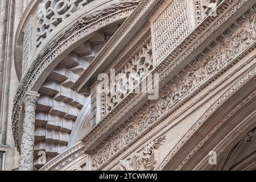
<instances>
[{"instance_id":1,"label":"pierced stone tracery with large openings above the curved moulding, top left","mask_svg":"<svg viewBox=\"0 0 256 182\"><path fill-rule=\"evenodd\" d=\"M51 34L66 18L94 0L46 0L38 9L36 46Z\"/></svg>"}]
</instances>

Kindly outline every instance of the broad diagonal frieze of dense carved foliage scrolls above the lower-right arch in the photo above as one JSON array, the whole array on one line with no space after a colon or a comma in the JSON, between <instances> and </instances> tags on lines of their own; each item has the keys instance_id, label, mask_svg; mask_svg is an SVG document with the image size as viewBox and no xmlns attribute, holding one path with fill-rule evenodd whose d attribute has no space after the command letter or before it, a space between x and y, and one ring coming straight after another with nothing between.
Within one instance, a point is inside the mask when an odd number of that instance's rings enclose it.
<instances>
[{"instance_id":1,"label":"broad diagonal frieze of dense carved foliage scrolls above the lower-right arch","mask_svg":"<svg viewBox=\"0 0 256 182\"><path fill-rule=\"evenodd\" d=\"M136 117L126 121L112 136L108 138L94 155L94 165L100 167L102 162L107 162L109 156L114 156L138 137L144 130L157 121L175 105L184 100L193 90L199 88L204 82L216 75L216 73L230 63L234 58L245 51L256 40L256 14L247 19L240 28L228 39L220 44L209 56L203 60L197 60L187 73L174 84L168 85L162 97L155 104L143 109ZM116 144L114 144L116 143ZM106 150L108 146L108 150ZM111 146L111 147L109 147ZM109 155L102 155L108 151Z\"/></svg>"}]
</instances>

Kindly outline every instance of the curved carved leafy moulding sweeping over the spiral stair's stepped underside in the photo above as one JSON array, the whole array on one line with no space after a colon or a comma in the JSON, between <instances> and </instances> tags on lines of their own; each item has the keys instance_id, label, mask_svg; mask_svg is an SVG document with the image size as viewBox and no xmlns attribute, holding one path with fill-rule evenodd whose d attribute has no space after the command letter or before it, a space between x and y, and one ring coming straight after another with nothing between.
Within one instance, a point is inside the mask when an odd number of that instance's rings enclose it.
<instances>
[{"instance_id":1,"label":"curved carved leafy moulding sweeping over the spiral stair's stepped underside","mask_svg":"<svg viewBox=\"0 0 256 182\"><path fill-rule=\"evenodd\" d=\"M13 135L18 151L20 151L18 145L18 122L21 109L20 103L22 103L24 92L31 90L45 69L55 61L56 57L71 47L72 44L112 22L126 18L135 9L139 1L122 1L105 7L105 9L94 12L93 14L85 15L67 26L42 48L20 81L14 98L12 115Z\"/></svg>"}]
</instances>

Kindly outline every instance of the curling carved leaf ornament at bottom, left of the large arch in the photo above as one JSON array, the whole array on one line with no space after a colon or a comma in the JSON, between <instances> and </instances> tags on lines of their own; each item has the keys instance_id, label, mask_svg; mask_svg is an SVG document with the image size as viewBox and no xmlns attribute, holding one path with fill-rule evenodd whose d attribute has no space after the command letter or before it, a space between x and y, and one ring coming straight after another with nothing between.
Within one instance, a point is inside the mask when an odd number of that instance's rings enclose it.
<instances>
[{"instance_id":1,"label":"curling carved leaf ornament at bottom, left of the large arch","mask_svg":"<svg viewBox=\"0 0 256 182\"><path fill-rule=\"evenodd\" d=\"M120 160L118 171L139 171L140 169L152 171L158 162L157 150L166 140L165 136L156 138L144 147L142 154L133 154L129 160Z\"/></svg>"}]
</instances>

